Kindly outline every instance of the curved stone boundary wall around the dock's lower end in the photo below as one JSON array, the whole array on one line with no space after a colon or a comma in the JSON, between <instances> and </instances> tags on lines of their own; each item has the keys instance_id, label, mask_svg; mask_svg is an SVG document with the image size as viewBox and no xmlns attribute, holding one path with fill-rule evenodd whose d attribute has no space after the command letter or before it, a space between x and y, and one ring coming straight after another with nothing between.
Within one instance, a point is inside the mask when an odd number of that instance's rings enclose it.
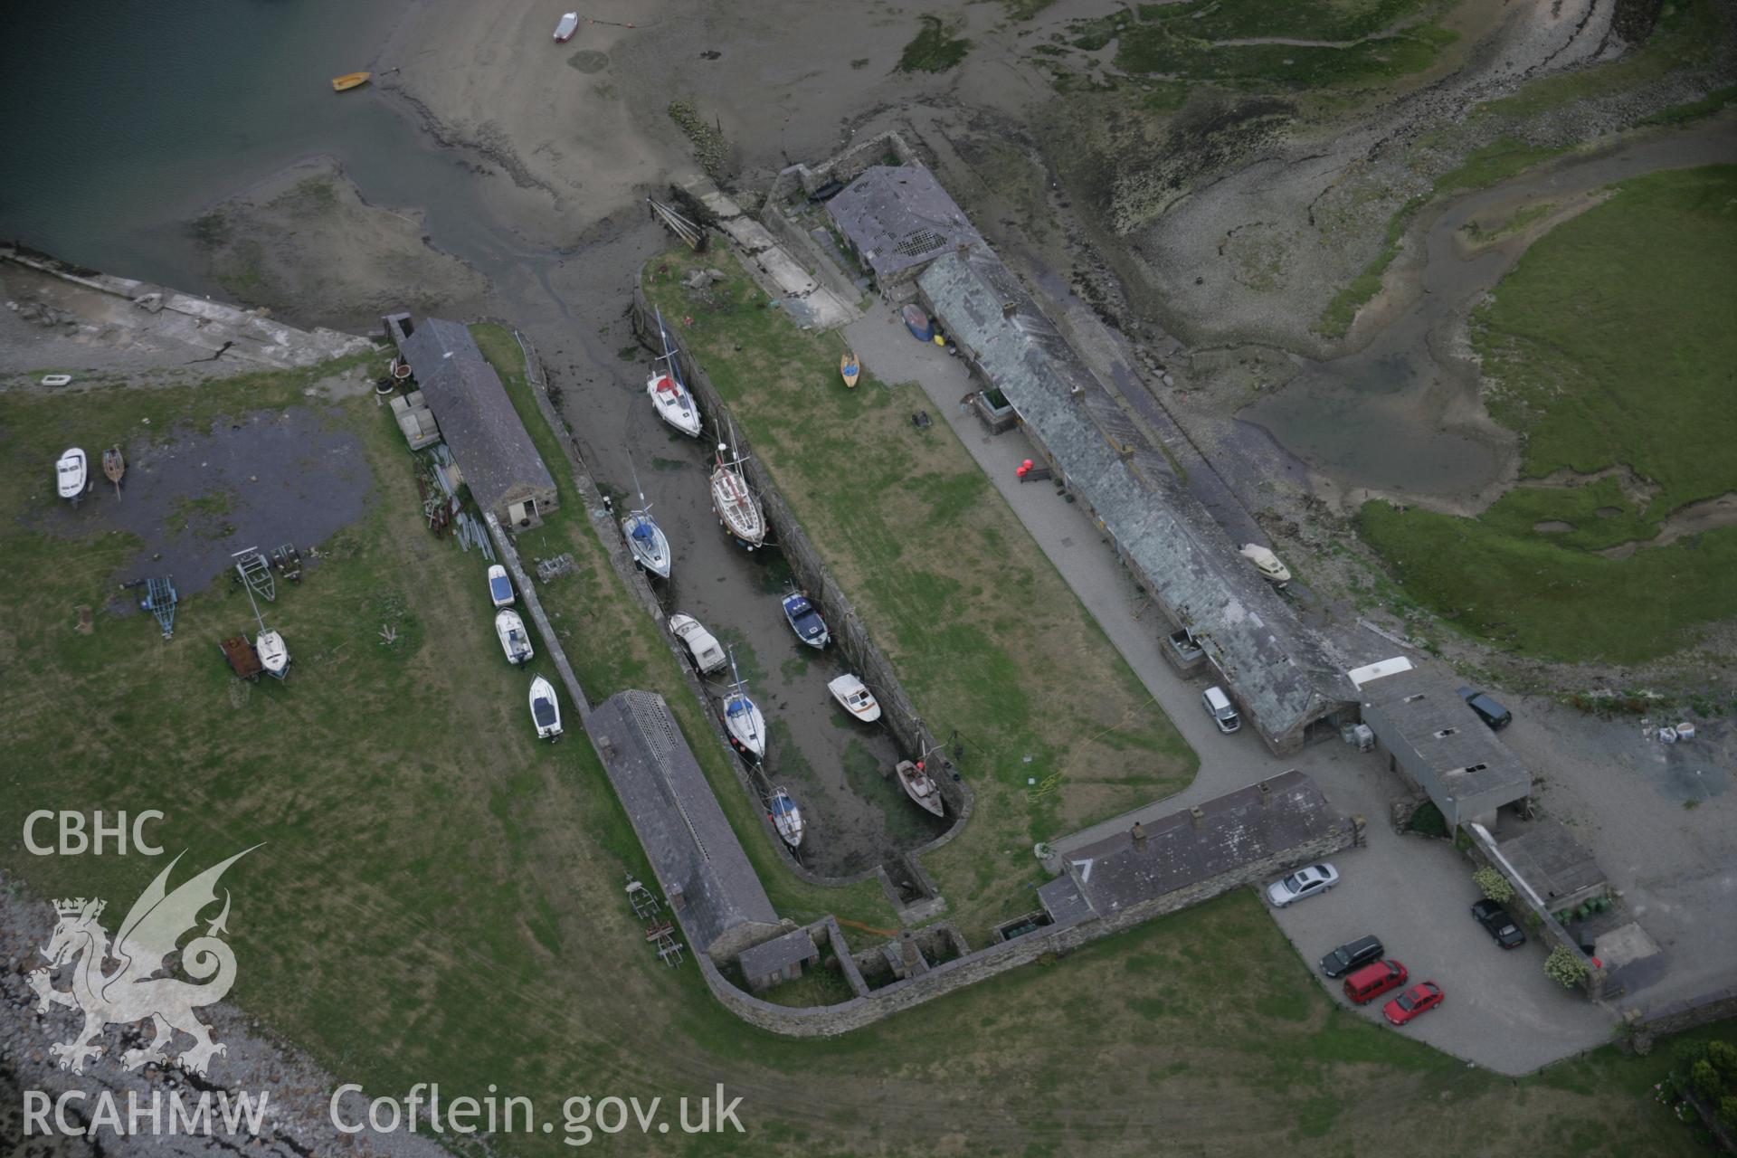
<instances>
[{"instance_id":1,"label":"curved stone boundary wall around the dock's lower end","mask_svg":"<svg viewBox=\"0 0 1737 1158\"><path fill-rule=\"evenodd\" d=\"M851 1030L860 1030L862 1026L889 1017L902 1009L931 1002L938 997L952 993L954 990L962 990L968 984L974 984L1018 965L1025 965L1039 957L1063 955L1070 950L1080 948L1082 944L1096 941L1098 938L1122 932L1124 929L1131 929L1153 917L1174 913L1176 910L1209 901L1223 892L1230 892L1232 889L1252 885L1263 877L1282 868L1289 868L1299 861L1315 859L1329 852L1337 852L1350 847L1350 844L1351 825L1341 823L1324 837L1294 845L1261 861L1242 865L1232 872L1219 873L1218 877L1209 877L1207 880L1195 882L1185 889L1176 889L1172 892L1166 892L1164 896L1141 901L1139 905L1131 905L1108 918L1094 917L1082 920L1077 925L1039 929L1023 938L1002 941L978 950L976 953L968 953L936 965L919 977L893 981L891 984L868 991L865 997L855 997L837 1005L776 1005L730 984L717 967L705 960L703 955L697 955L697 960L700 964L700 974L705 977L705 984L712 990L712 997L723 1002L728 1010L743 1021L785 1036L834 1036ZM837 943L834 944L837 946Z\"/></svg>"}]
</instances>

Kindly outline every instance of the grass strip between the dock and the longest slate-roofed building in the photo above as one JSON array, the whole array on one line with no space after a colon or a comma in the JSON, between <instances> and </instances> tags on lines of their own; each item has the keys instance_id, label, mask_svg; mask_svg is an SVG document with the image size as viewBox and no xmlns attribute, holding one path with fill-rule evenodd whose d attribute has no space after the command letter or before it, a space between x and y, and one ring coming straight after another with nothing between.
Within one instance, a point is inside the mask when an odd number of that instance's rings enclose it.
<instances>
[{"instance_id":1,"label":"grass strip between the dock and the longest slate-roofed building","mask_svg":"<svg viewBox=\"0 0 1737 1158\"><path fill-rule=\"evenodd\" d=\"M837 380L839 337L796 328L740 266L709 290L684 250L646 266L929 729L964 741L978 793L924 858L973 944L1034 908L1032 844L1167 795L1199 762L952 429L917 431L914 384ZM698 264L719 266L719 259ZM651 273L657 269L667 273Z\"/></svg>"}]
</instances>

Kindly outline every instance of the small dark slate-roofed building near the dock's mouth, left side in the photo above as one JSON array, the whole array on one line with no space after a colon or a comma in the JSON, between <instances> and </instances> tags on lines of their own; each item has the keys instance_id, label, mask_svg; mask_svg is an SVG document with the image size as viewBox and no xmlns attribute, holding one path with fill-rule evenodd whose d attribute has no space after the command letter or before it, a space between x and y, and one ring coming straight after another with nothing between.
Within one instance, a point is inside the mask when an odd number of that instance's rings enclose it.
<instances>
[{"instance_id":1,"label":"small dark slate-roofed building near the dock's mouth, left side","mask_svg":"<svg viewBox=\"0 0 1737 1158\"><path fill-rule=\"evenodd\" d=\"M540 512L559 505L554 477L471 330L439 318L415 323L410 314L384 321L471 497L507 530L537 526Z\"/></svg>"}]
</instances>

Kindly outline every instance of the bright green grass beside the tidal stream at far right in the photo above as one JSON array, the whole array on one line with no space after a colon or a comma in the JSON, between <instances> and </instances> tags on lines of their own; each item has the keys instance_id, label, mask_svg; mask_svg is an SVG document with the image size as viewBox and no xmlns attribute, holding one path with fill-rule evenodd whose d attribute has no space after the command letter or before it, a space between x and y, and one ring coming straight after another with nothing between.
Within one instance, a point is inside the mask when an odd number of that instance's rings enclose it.
<instances>
[{"instance_id":1,"label":"bright green grass beside the tidal stream at far right","mask_svg":"<svg viewBox=\"0 0 1737 1158\"><path fill-rule=\"evenodd\" d=\"M1612 189L1541 238L1473 316L1490 413L1525 438L1525 477L1476 519L1369 503L1365 538L1407 592L1468 634L1562 660L1668 655L1737 615L1737 528L1659 535L1737 490L1737 167ZM1635 481L1598 474L1626 467ZM1553 530L1536 530L1548 524Z\"/></svg>"}]
</instances>

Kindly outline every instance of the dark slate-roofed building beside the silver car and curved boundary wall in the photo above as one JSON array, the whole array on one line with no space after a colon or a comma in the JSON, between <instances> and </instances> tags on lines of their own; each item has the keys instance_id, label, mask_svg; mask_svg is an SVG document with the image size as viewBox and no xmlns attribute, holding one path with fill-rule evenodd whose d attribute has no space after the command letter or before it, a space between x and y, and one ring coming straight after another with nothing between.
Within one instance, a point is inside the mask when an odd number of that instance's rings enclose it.
<instances>
[{"instance_id":1,"label":"dark slate-roofed building beside the silver car and curved boundary wall","mask_svg":"<svg viewBox=\"0 0 1737 1158\"><path fill-rule=\"evenodd\" d=\"M1320 786L1298 771L1237 788L1067 854L1065 873L1039 889L1058 924L1117 913L1202 889L1228 873L1296 863L1350 844ZM1185 899L1185 903L1188 903Z\"/></svg>"}]
</instances>

